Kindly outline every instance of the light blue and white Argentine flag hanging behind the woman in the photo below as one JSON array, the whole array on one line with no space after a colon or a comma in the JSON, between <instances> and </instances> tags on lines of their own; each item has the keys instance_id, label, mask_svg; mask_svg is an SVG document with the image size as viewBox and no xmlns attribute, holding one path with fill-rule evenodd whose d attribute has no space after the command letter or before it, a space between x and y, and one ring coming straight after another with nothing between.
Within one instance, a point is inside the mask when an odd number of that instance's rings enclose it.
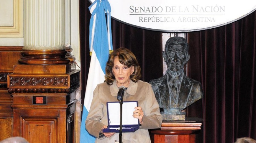
<instances>
[{"instance_id":1,"label":"light blue and white Argentine flag hanging behind the woman","mask_svg":"<svg viewBox=\"0 0 256 143\"><path fill-rule=\"evenodd\" d=\"M83 116L81 121L80 143L94 143L95 137L85 129L85 120L90 110L93 90L105 80L105 67L109 52L113 50L111 32L111 7L108 0L95 0L89 7L90 19L90 55L91 63L84 97ZM106 16L107 13L107 22Z\"/></svg>"}]
</instances>

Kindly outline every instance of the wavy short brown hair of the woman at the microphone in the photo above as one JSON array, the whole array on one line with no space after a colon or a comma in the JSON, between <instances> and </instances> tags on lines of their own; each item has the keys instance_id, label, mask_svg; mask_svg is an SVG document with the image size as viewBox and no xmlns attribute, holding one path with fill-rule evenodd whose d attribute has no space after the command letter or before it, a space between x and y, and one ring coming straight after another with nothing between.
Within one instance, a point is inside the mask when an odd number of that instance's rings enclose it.
<instances>
[{"instance_id":1,"label":"wavy short brown hair of the woman at the microphone","mask_svg":"<svg viewBox=\"0 0 256 143\"><path fill-rule=\"evenodd\" d=\"M140 66L137 61L137 58L129 49L121 47L114 50L111 54L109 54L107 65L106 65L106 74L105 74L104 82L107 82L108 85L112 85L115 80L115 76L112 73L112 68L114 66L114 59L116 57L118 58L121 64L127 66L128 68L130 68L131 66L134 66L134 72L130 76L130 79L133 82L137 82L138 80L140 80L141 78Z\"/></svg>"}]
</instances>

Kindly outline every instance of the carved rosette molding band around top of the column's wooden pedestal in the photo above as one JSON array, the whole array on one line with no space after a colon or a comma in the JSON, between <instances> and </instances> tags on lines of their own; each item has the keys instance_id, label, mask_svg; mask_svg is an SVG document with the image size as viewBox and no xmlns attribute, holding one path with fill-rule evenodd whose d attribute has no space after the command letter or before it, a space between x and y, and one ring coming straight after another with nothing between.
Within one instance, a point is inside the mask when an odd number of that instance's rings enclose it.
<instances>
[{"instance_id":1,"label":"carved rosette molding band around top of the column's wooden pedestal","mask_svg":"<svg viewBox=\"0 0 256 143\"><path fill-rule=\"evenodd\" d=\"M9 93L70 93L80 87L80 71L48 77L11 74L8 86Z\"/></svg>"}]
</instances>

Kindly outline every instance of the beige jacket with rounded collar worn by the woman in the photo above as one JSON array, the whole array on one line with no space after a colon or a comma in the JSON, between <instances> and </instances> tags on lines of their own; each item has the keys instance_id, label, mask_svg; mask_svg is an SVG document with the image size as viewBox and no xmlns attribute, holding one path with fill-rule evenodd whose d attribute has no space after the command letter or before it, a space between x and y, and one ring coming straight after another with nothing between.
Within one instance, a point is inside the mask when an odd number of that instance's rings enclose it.
<instances>
[{"instance_id":1,"label":"beige jacket with rounded collar worn by the woman","mask_svg":"<svg viewBox=\"0 0 256 143\"><path fill-rule=\"evenodd\" d=\"M85 127L90 134L97 137L95 143L119 141L119 132L110 138L104 136L104 138L99 139L101 128L104 125L108 126L106 103L118 102L117 92L116 82L113 85L108 85L106 82L100 83L93 92L92 104L85 121ZM151 85L148 82L138 81L135 83L130 80L129 87L124 92L123 101L138 101L138 106L142 108L144 113L143 125L140 126L139 130L122 133L123 143L150 143L148 129L161 128L163 120Z\"/></svg>"}]
</instances>

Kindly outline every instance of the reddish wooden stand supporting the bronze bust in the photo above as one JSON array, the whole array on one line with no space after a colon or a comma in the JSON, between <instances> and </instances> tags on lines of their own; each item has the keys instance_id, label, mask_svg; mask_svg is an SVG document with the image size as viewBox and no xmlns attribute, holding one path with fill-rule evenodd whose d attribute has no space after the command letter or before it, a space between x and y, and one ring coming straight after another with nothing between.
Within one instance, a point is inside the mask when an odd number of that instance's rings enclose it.
<instances>
[{"instance_id":1,"label":"reddish wooden stand supporting the bronze bust","mask_svg":"<svg viewBox=\"0 0 256 143\"><path fill-rule=\"evenodd\" d=\"M151 130L154 143L196 143L201 121L163 121L161 129Z\"/></svg>"}]
</instances>

